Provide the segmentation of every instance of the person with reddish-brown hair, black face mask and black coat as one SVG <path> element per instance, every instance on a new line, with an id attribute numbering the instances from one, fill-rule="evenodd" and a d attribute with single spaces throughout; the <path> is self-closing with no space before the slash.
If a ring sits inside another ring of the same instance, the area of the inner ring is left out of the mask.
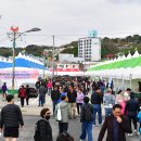
<path id="1" fill-rule="evenodd" d="M 52 128 L 49 123 L 50 115 L 51 112 L 49 108 L 42 108 L 40 112 L 40 116 L 41 116 L 40 124 L 39 124 L 40 141 L 53 141 Z"/>

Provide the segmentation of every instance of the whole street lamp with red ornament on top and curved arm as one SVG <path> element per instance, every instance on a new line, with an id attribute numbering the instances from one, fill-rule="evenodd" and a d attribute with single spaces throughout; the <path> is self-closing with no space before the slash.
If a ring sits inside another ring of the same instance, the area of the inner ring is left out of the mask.
<path id="1" fill-rule="evenodd" d="M 39 31 L 41 30 L 40 28 L 31 28 L 29 30 L 26 30 L 24 33 L 17 33 L 18 27 L 17 26 L 11 26 L 12 33 L 8 34 L 8 36 L 12 39 L 13 41 L 13 69 L 12 69 L 12 89 L 14 90 L 15 87 L 15 44 L 16 44 L 16 39 L 20 38 L 22 35 L 26 33 L 31 33 L 31 31 Z"/>

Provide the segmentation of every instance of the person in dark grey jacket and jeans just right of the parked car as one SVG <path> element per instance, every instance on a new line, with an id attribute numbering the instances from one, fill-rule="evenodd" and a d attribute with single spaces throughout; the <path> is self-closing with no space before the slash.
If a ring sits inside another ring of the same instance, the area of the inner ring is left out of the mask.
<path id="1" fill-rule="evenodd" d="M 44 97 L 46 97 L 46 88 L 44 88 L 44 84 L 42 82 L 41 87 L 39 88 L 39 106 L 43 106 Z"/>

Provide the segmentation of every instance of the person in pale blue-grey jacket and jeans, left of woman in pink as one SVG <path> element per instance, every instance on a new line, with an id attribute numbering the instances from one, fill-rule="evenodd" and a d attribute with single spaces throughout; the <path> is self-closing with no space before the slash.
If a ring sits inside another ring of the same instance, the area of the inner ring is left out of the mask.
<path id="1" fill-rule="evenodd" d="M 108 89 L 103 97 L 103 104 L 105 108 L 105 117 L 112 114 L 112 107 L 115 104 L 115 97 L 112 94 L 112 90 Z"/>

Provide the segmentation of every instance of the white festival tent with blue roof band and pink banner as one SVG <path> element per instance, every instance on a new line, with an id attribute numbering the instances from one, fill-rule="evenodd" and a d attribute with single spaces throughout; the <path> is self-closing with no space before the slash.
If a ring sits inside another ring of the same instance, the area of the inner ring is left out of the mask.
<path id="1" fill-rule="evenodd" d="M 12 86 L 12 61 L 0 59 L 0 81 L 7 82 L 9 89 L 11 89 Z M 38 78 L 42 76 L 43 69 L 44 74 L 50 74 L 50 72 L 44 68 L 43 63 L 20 53 L 15 57 L 15 89 L 25 82 L 35 84 Z"/>

